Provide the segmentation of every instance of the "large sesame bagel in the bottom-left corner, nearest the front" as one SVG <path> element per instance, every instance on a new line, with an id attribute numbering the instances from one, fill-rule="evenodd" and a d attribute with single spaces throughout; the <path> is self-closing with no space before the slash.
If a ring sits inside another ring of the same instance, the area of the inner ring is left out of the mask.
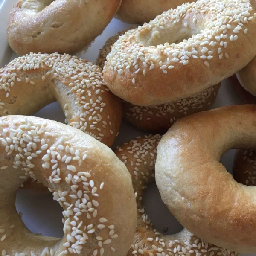
<path id="1" fill-rule="evenodd" d="M 137 219 L 131 175 L 98 140 L 55 121 L 1 117 L 0 174 L 2 255 L 126 255 Z M 35 235 L 17 214 L 15 194 L 28 177 L 63 207 L 62 239 Z"/>

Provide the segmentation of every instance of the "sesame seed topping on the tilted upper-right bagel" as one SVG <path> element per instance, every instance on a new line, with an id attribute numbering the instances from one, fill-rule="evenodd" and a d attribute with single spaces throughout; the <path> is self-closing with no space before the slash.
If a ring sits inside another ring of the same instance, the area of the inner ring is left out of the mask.
<path id="1" fill-rule="evenodd" d="M 254 18 L 249 0 L 201 0 L 163 12 L 121 35 L 113 44 L 105 65 L 105 73 L 114 74 L 108 79 L 108 86 L 115 90 L 111 79 L 119 81 L 125 76 L 130 77 L 126 88 L 128 84 L 136 87 L 138 77 L 155 69 L 159 70 L 159 77 L 185 71 L 194 63 L 201 63 L 206 70 L 214 69 L 214 60 L 220 62 L 233 54 L 230 46 L 248 34 L 248 24 Z M 178 38 L 177 29 L 188 39 Z"/>

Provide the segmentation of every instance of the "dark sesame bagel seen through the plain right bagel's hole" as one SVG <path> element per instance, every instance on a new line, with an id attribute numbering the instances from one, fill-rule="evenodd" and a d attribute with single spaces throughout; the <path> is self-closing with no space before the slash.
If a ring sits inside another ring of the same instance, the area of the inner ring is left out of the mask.
<path id="1" fill-rule="evenodd" d="M 233 175 L 237 182 L 256 186 L 256 151 L 238 150 L 233 162 Z"/>

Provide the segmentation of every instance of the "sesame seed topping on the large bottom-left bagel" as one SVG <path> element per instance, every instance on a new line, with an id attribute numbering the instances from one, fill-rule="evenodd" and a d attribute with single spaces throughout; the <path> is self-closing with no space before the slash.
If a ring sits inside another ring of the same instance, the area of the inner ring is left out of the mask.
<path id="1" fill-rule="evenodd" d="M 38 163 L 41 164 L 45 181 L 51 184 L 49 190 L 52 191 L 53 199 L 63 207 L 63 247 L 47 247 L 40 253 L 36 249 L 31 255 L 55 256 L 56 250 L 60 248 L 64 249 L 58 255 L 80 254 L 94 236 L 100 236 L 102 243 L 95 244 L 91 253 L 104 255 L 104 248 L 110 248 L 111 244 L 113 248 L 113 240 L 118 238 L 115 226 L 99 211 L 104 182 L 93 180 L 93 176 L 85 172 L 87 157 L 84 157 L 81 148 L 73 147 L 63 137 L 54 138 L 55 134 L 49 132 L 48 123 L 51 121 L 42 120 L 34 122 L 32 117 L 20 117 L 20 122 L 13 124 L 12 119 L 8 121 L 8 117 L 0 119 L 0 147 L 13 160 L 12 166 L 4 166 L 6 168 L 0 169 L 1 172 L 14 168 L 22 174 L 18 175 L 22 182 L 28 177 L 36 180 L 38 177 L 34 169 L 38 169 Z M 80 165 L 77 157 L 80 157 Z M 67 159 L 69 163 L 65 163 Z M 19 216 L 22 217 L 22 212 Z M 8 244 L 15 224 L 1 225 L 0 244 L 5 241 Z M 28 255 L 27 252 L 16 254 Z M 8 255 L 7 248 L 2 251 L 2 255 Z"/>

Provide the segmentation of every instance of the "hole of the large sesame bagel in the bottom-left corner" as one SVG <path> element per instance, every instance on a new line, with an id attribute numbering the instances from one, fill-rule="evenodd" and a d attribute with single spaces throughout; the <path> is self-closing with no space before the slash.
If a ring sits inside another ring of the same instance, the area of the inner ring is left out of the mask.
<path id="1" fill-rule="evenodd" d="M 16 210 L 26 227 L 35 234 L 61 238 L 63 236 L 62 208 L 53 201 L 50 192 L 44 194 L 18 189 Z"/>

